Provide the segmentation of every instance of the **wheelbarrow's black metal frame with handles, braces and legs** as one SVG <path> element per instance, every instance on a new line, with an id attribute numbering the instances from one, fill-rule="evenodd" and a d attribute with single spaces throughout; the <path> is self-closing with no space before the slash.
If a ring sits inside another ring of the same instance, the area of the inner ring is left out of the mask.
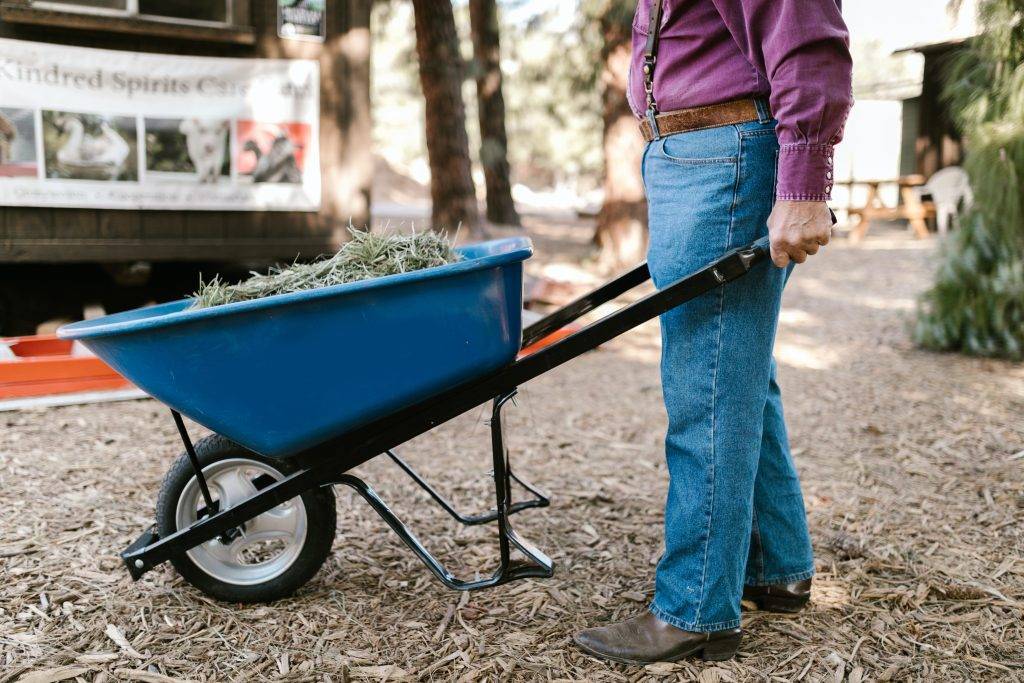
<path id="1" fill-rule="evenodd" d="M 672 283 L 660 291 L 648 294 L 588 325 L 583 330 L 529 355 L 520 357 L 500 370 L 447 389 L 438 395 L 296 454 L 292 457 L 300 465 L 299 471 L 260 489 L 227 510 L 218 510 L 211 501 L 198 460 L 195 459 L 191 441 L 180 416 L 174 413 L 175 423 L 178 425 L 179 434 L 185 444 L 185 452 L 188 453 L 200 480 L 207 509 L 213 513 L 163 539 L 158 538 L 154 529 L 151 528 L 126 549 L 121 557 L 132 578 L 137 580 L 158 564 L 195 548 L 201 543 L 218 537 L 230 538 L 234 529 L 246 521 L 306 490 L 316 486 L 344 484 L 361 496 L 402 542 L 427 565 L 427 568 L 449 588 L 468 591 L 529 577 L 550 577 L 553 572 L 551 560 L 521 539 L 509 523 L 509 517 L 512 514 L 527 508 L 545 507 L 548 505 L 548 499 L 534 486 L 512 474 L 502 421 L 502 410 L 505 404 L 512 399 L 517 387 L 524 382 L 586 351 L 597 348 L 624 332 L 690 299 L 741 278 L 754 265 L 767 258 L 768 245 L 766 240 L 729 252 L 700 270 Z M 648 279 L 650 279 L 650 272 L 645 263 L 620 275 L 526 328 L 523 331 L 522 347 L 525 348 L 547 337 L 552 332 L 615 299 Z M 412 467 L 398 458 L 393 449 L 488 401 L 493 401 L 490 441 L 497 505 L 494 510 L 484 514 L 462 515 Z M 498 523 L 500 562 L 494 574 L 477 581 L 457 579 L 430 554 L 373 488 L 358 477 L 346 474 L 353 467 L 383 454 L 386 454 L 457 521 L 463 524 L 482 524 L 492 521 Z M 522 485 L 532 498 L 513 503 L 511 500 L 511 482 L 513 480 Z M 512 560 L 513 548 L 525 557 L 524 563 Z"/>

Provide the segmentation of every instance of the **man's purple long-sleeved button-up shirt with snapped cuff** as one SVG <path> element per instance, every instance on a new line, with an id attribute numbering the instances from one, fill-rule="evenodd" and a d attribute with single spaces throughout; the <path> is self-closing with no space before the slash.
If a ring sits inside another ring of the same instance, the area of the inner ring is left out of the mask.
<path id="1" fill-rule="evenodd" d="M 853 103 L 841 0 L 665 0 L 654 69 L 659 112 L 767 97 L 780 144 L 780 200 L 823 201 Z M 647 109 L 643 49 L 651 0 L 633 19 L 629 99 Z"/>

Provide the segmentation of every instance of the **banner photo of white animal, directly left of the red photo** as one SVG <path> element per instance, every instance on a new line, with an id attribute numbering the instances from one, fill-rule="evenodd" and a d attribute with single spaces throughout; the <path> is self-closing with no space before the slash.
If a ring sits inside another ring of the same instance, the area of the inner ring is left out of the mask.
<path id="1" fill-rule="evenodd" d="M 231 174 L 226 119 L 145 119 L 145 179 L 218 182 Z"/>

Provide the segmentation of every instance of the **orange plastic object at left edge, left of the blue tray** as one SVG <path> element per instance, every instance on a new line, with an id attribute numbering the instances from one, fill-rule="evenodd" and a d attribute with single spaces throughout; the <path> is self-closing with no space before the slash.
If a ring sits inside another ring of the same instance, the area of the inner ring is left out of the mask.
<path id="1" fill-rule="evenodd" d="M 53 335 L 8 337 L 15 357 L 0 359 L 0 399 L 124 389 L 131 384 L 91 355 L 72 355 L 72 342 Z"/>

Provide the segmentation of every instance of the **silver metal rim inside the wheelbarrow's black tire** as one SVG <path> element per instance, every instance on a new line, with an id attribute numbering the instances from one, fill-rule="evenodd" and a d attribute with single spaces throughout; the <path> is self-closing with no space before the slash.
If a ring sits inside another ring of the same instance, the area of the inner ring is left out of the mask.
<path id="1" fill-rule="evenodd" d="M 207 465 L 203 475 L 220 510 L 229 509 L 256 493 L 254 480 L 267 475 L 278 481 L 284 475 L 269 465 L 248 458 L 230 458 Z M 199 519 L 206 507 L 199 480 L 193 476 L 178 496 L 175 512 L 177 528 L 185 528 Z M 252 586 L 276 579 L 288 570 L 302 553 L 306 540 L 306 506 L 293 498 L 239 527 L 241 536 L 229 544 L 212 539 L 187 551 L 188 558 L 204 572 L 234 586 Z M 284 549 L 269 559 L 247 563 L 242 556 L 260 543 L 282 542 Z"/>

